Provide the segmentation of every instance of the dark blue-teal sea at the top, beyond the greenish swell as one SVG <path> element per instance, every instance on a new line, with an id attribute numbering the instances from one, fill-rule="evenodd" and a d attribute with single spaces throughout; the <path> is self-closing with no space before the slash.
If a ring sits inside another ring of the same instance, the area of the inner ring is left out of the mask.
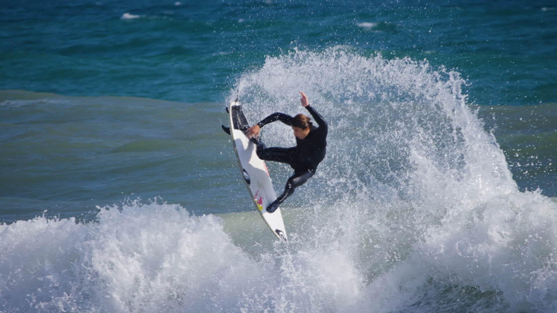
<path id="1" fill-rule="evenodd" d="M 345 45 L 457 69 L 480 105 L 557 96 L 550 1 L 7 1 L 0 10 L 3 89 L 219 102 L 266 56 Z"/>

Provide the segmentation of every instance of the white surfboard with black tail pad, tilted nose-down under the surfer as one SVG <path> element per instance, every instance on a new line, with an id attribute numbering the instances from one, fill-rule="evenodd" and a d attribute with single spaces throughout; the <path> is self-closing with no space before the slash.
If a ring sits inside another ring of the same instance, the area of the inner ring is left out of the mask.
<path id="1" fill-rule="evenodd" d="M 230 102 L 228 113 L 234 151 L 251 199 L 271 231 L 279 239 L 287 242 L 286 229 L 282 221 L 280 208 L 277 208 L 273 213 L 267 212 L 268 204 L 275 201 L 277 197 L 265 162 L 257 156 L 256 145 L 244 133 L 250 127 L 250 124 L 243 114 L 240 102 Z"/>

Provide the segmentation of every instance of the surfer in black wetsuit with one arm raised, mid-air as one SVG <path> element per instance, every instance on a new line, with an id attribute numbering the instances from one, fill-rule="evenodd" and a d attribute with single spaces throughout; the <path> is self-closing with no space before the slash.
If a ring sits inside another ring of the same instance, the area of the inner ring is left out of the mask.
<path id="1" fill-rule="evenodd" d="M 251 126 L 246 135 L 257 145 L 257 156 L 266 161 L 275 161 L 289 164 L 294 169 L 292 175 L 286 182 L 284 192 L 271 204 L 267 206 L 267 212 L 275 212 L 276 209 L 294 193 L 294 189 L 307 182 L 310 177 L 315 174 L 317 165 L 325 158 L 325 147 L 327 146 L 327 122 L 323 119 L 307 101 L 307 96 L 300 91 L 302 95 L 300 101 L 303 107 L 311 114 L 319 127 L 314 126 L 311 119 L 304 115 L 298 114 L 294 117 L 276 112 L 259 123 Z M 296 137 L 296 146 L 292 148 L 265 148 L 265 144 L 258 138 L 260 129 L 274 121 L 292 126 L 294 136 Z"/>

